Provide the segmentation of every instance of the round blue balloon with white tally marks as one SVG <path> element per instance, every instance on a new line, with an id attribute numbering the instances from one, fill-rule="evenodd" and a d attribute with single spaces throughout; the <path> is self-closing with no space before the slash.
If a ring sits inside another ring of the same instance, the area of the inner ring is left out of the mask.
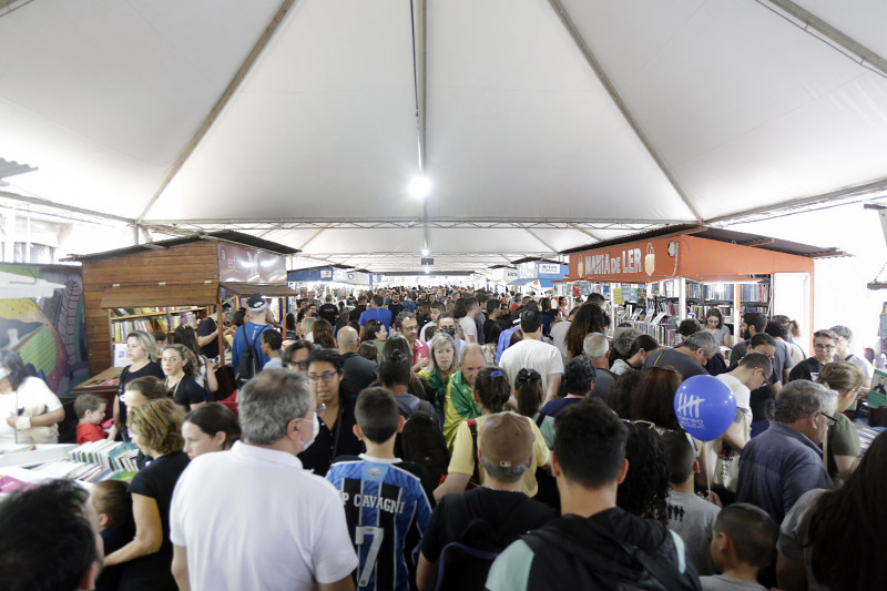
<path id="1" fill-rule="evenodd" d="M 693 376 L 677 387 L 674 414 L 686 432 L 700 441 L 712 441 L 733 422 L 736 398 L 716 377 Z"/>

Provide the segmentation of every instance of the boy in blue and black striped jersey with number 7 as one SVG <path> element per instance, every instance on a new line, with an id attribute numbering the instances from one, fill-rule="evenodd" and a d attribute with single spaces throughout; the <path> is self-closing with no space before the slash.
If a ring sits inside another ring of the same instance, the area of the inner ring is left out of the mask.
<path id="1" fill-rule="evenodd" d="M 395 457 L 404 427 L 397 401 L 385 388 L 367 388 L 355 407 L 354 432 L 366 444 L 360 456 L 340 456 L 327 480 L 339 490 L 359 565 L 360 591 L 415 589 L 421 534 L 431 514 L 422 468 Z"/>

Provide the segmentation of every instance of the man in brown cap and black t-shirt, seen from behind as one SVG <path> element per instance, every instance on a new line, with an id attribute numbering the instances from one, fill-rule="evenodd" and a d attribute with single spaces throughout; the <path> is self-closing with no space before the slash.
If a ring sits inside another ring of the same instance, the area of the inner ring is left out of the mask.
<path id="1" fill-rule="evenodd" d="M 513 412 L 488 415 L 478 434 L 478 461 L 483 466 L 482 487 L 440 499 L 422 537 L 416 571 L 419 589 L 431 589 L 440 552 L 453 541 L 468 543 L 459 536 L 472 521 L 485 521 L 502 549 L 521 533 L 558 517 L 558 512 L 523 493 L 523 475 L 536 469 L 536 437 L 526 417 Z"/>

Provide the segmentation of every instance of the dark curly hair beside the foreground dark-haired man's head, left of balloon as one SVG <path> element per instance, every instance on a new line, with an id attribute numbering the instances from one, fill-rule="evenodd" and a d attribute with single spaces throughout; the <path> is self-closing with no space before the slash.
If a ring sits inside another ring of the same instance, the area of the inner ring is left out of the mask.
<path id="1" fill-rule="evenodd" d="M 616 489 L 616 506 L 638 517 L 667 523 L 669 461 L 655 426 L 625 421 L 629 439 L 625 459 L 629 472 Z"/>

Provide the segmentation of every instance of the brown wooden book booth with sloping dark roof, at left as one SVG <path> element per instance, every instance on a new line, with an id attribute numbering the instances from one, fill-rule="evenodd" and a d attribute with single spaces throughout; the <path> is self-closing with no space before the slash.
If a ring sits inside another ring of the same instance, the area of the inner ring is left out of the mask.
<path id="1" fill-rule="evenodd" d="M 286 255 L 297 252 L 239 232 L 215 232 L 73 256 L 83 266 L 90 375 L 114 365 L 114 345 L 131 330 L 196 326 L 211 306 L 222 326 L 218 305 L 233 296 L 295 295 L 286 285 Z"/>

